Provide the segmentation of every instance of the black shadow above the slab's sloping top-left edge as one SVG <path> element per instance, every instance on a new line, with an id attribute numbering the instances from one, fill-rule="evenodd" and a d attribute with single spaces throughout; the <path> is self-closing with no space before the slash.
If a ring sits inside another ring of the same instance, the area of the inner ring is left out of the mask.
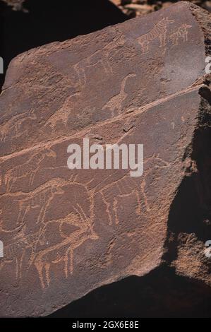
<path id="1" fill-rule="evenodd" d="M 12 11 L 0 1 L 1 54 L 4 73 L 16 55 L 49 42 L 68 40 L 128 17 L 109 0 L 27 0 L 29 13 Z M 0 75 L 0 88 L 4 75 Z"/>

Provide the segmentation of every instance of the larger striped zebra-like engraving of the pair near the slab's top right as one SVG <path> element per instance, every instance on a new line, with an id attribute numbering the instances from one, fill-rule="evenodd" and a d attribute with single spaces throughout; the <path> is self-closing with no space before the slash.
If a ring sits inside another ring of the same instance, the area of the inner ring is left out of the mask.
<path id="1" fill-rule="evenodd" d="M 137 38 L 138 43 L 141 46 L 143 54 L 149 50 L 149 45 L 152 40 L 159 39 L 159 47 L 166 45 L 167 40 L 167 25 L 174 23 L 174 20 L 169 20 L 169 18 L 162 18 L 150 32 L 145 33 Z"/>

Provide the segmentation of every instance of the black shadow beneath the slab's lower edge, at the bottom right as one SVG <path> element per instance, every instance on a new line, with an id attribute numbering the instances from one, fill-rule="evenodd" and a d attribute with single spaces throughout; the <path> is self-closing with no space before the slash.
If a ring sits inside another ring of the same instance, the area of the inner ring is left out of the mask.
<path id="1" fill-rule="evenodd" d="M 100 287 L 49 317 L 210 317 L 210 300 L 208 287 L 162 266 Z"/>

